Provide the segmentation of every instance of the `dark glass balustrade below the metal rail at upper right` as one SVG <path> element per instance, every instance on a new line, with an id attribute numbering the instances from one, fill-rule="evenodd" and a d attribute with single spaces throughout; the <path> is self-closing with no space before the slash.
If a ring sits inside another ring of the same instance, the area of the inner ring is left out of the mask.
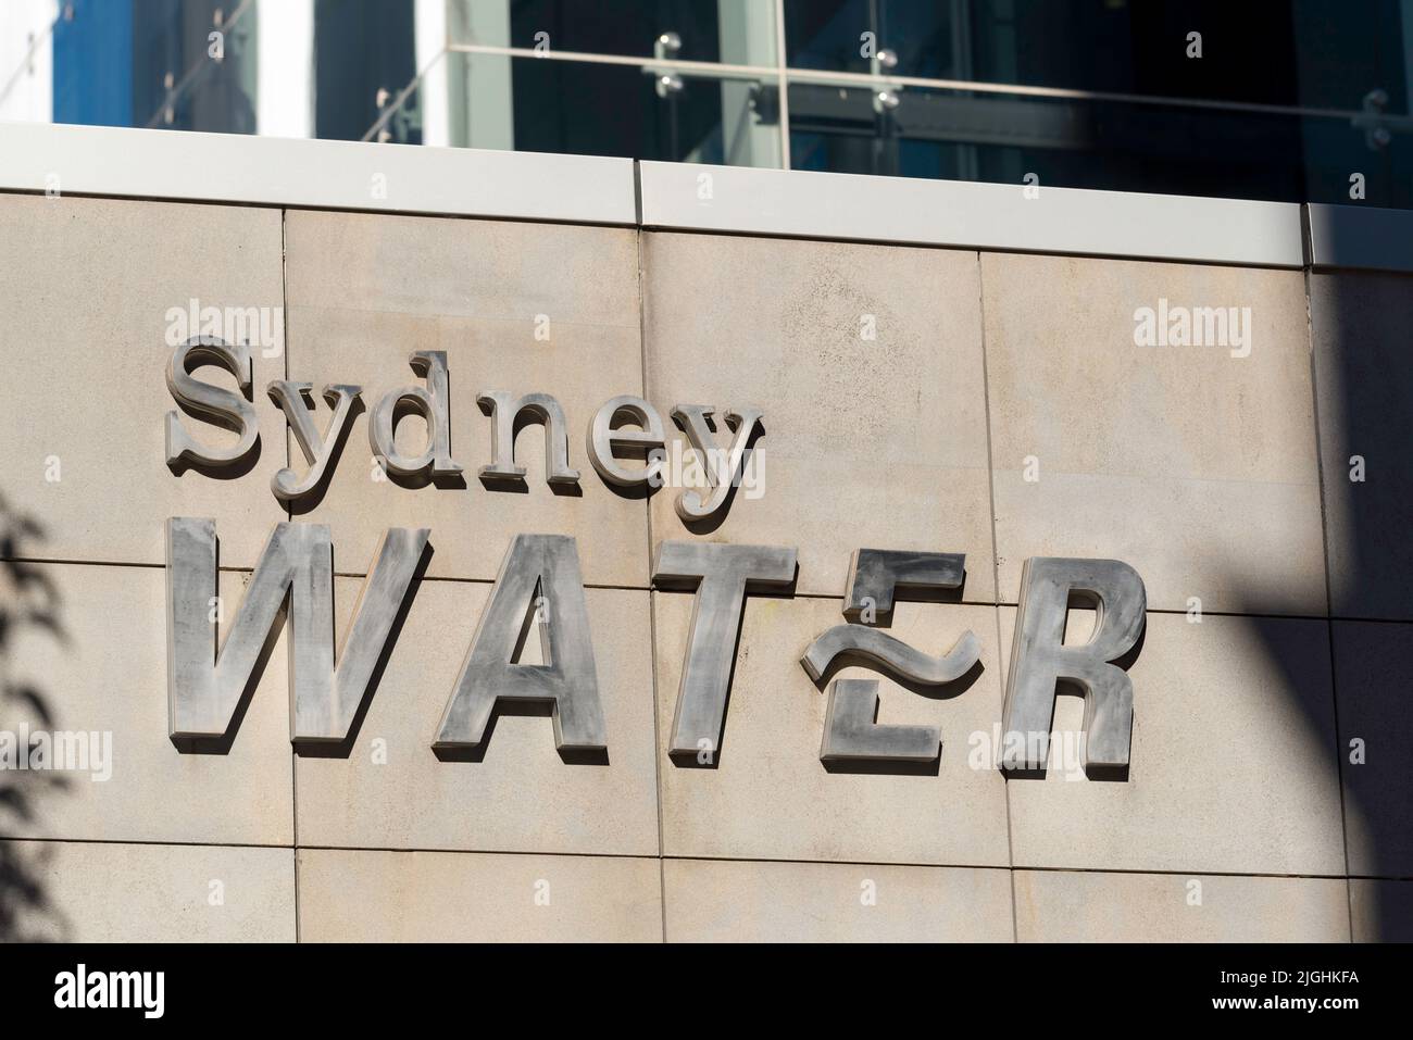
<path id="1" fill-rule="evenodd" d="M 793 82 L 797 170 L 1286 202 L 1413 206 L 1413 137 L 1379 144 L 1347 119 Z M 1308 162 L 1308 170 L 1307 170 Z"/>

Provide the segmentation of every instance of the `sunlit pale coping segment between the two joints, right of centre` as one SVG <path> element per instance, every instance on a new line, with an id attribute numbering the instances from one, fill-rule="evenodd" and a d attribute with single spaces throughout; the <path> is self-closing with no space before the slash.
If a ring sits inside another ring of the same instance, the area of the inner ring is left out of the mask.
<path id="1" fill-rule="evenodd" d="M 644 228 L 1304 266 L 1300 205 L 640 162 Z"/>

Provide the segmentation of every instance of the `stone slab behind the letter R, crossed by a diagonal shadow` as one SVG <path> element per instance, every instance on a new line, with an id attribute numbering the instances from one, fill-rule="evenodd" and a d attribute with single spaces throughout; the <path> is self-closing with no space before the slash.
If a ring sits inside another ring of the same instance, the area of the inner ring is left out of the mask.
<path id="1" fill-rule="evenodd" d="M 1344 873 L 1325 622 L 1150 613 L 1129 675 L 1128 780 L 1010 780 L 1016 866 Z M 1081 721 L 1061 697 L 1051 749 Z"/>

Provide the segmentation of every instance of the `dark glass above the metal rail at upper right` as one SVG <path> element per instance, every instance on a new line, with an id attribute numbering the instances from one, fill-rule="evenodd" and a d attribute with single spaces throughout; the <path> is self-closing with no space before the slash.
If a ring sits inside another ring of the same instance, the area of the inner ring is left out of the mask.
<path id="1" fill-rule="evenodd" d="M 883 71 L 1072 90 L 1409 112 L 1413 4 L 1344 0 L 784 0 L 791 68 Z M 1190 57 L 1188 32 L 1201 32 Z M 873 34 L 872 40 L 866 34 Z"/>

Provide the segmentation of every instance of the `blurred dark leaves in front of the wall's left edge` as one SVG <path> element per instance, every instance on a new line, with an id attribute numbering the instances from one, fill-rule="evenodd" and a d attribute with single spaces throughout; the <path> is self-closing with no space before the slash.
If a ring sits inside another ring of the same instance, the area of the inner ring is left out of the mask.
<path id="1" fill-rule="evenodd" d="M 32 834 L 47 800 L 68 786 L 62 773 L 13 767 L 21 723 L 30 732 L 52 729 L 49 702 L 37 685 L 17 677 L 16 646 L 21 640 L 66 640 L 59 596 L 45 572 L 24 562 L 44 540 L 32 517 L 17 513 L 0 496 L 0 941 L 23 942 L 62 937 L 68 928 L 49 903 L 44 878 L 54 848 L 48 842 L 10 839 Z"/>

